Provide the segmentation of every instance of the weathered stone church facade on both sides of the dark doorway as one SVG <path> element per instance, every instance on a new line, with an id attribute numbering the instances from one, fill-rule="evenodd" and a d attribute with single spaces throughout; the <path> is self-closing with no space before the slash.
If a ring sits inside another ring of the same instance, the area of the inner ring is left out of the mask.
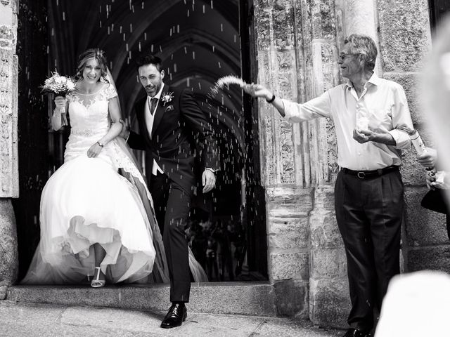
<path id="1" fill-rule="evenodd" d="M 11 199 L 26 193 L 18 185 L 19 1 L 0 0 L 0 300 L 18 277 Z M 427 0 L 254 0 L 252 5 L 254 81 L 283 98 L 314 98 L 343 81 L 337 64 L 342 40 L 352 33 L 368 34 L 378 45 L 375 71 L 404 86 L 413 124 L 432 145 L 416 87 L 432 46 Z M 288 124 L 271 105 L 254 104 L 274 313 L 345 326 L 350 304 L 334 213 L 339 168 L 333 123 Z M 401 173 L 406 203 L 402 270 L 450 271 L 445 219 L 420 209 L 426 187 L 413 150 L 404 152 Z"/>

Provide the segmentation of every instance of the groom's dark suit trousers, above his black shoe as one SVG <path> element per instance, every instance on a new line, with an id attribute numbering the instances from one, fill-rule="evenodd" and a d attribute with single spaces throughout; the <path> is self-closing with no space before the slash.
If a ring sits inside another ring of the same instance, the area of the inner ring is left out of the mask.
<path id="1" fill-rule="evenodd" d="M 188 261 L 188 242 L 184 230 L 192 195 L 162 173 L 151 176 L 150 193 L 169 267 L 170 301 L 188 302 L 191 272 Z"/>

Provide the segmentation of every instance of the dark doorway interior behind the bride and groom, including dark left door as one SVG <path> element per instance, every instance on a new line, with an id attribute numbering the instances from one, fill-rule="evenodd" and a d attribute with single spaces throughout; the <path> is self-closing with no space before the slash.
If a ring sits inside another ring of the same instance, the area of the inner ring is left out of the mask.
<path id="1" fill-rule="evenodd" d="M 266 279 L 264 190 L 259 177 L 257 110 L 239 88 L 230 86 L 208 95 L 217 79 L 229 74 L 255 78 L 252 48 L 252 1 L 245 0 L 39 0 L 20 1 L 24 25 L 42 25 L 38 33 L 19 29 L 21 92 L 33 93 L 39 107 L 28 107 L 31 95 L 20 96 L 20 134 L 34 133 L 28 143 L 20 138 L 20 199 L 18 214 L 20 275 L 27 270 L 39 240 L 39 199 L 46 178 L 63 163 L 69 129 L 48 128 L 46 98 L 38 86 L 49 72 L 73 75 L 77 55 L 86 48 L 105 51 L 120 94 L 122 114 L 131 126 L 131 107 L 140 95 L 134 59 L 139 53 L 158 53 L 165 60 L 167 84 L 191 88 L 210 117 L 219 140 L 221 169 L 216 190 L 198 195 L 188 231 L 196 258 L 211 280 Z M 40 23 L 27 22 L 29 16 Z M 24 26 L 25 27 L 25 26 Z M 34 48 L 33 57 L 27 48 Z M 24 77 L 25 76 L 25 77 Z M 27 83 L 25 83 L 27 81 Z M 30 98 L 29 98 L 30 96 Z M 50 109 L 51 109 L 51 102 Z M 26 109 L 33 111 L 32 119 Z M 39 125 L 39 127 L 37 127 Z M 34 151 L 33 156 L 30 153 Z M 139 154 L 138 154 L 139 156 Z M 46 160 L 45 160 L 46 159 Z M 33 166 L 31 168 L 31 166 Z M 40 170 L 33 192 L 30 181 Z M 30 173 L 33 172 L 32 175 Z M 28 184 L 28 185 L 27 185 Z M 27 190 L 28 188 L 28 190 Z M 32 205 L 32 206 L 28 206 Z M 19 215 L 23 214 L 23 218 Z M 20 219 L 19 219 L 20 218 Z"/>

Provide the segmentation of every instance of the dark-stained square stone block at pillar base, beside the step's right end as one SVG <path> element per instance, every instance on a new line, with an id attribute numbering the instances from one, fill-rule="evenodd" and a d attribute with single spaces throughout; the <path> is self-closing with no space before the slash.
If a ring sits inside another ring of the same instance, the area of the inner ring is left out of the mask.
<path id="1" fill-rule="evenodd" d="M 274 284 L 276 312 L 279 316 L 308 319 L 308 285 L 302 281 L 288 280 Z"/>

